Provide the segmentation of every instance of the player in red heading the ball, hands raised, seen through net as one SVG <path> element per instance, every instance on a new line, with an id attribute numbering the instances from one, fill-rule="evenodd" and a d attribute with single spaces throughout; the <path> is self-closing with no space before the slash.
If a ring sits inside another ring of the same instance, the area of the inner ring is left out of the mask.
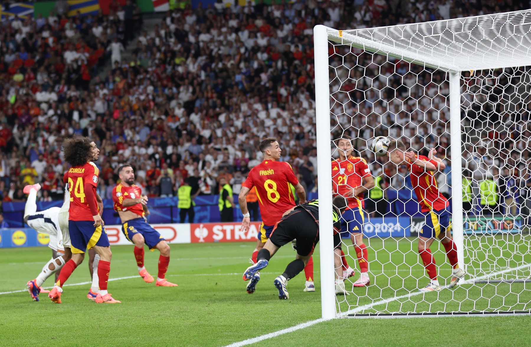
<path id="1" fill-rule="evenodd" d="M 450 226 L 449 202 L 439 192 L 437 181 L 433 176 L 434 171 L 443 170 L 446 165 L 442 159 L 435 156 L 436 152 L 430 149 L 428 157 L 416 155 L 414 152 L 406 152 L 406 145 L 400 140 L 392 140 L 387 149 L 389 159 L 396 165 L 406 165 L 410 171 L 413 190 L 417 195 L 417 200 L 421 206 L 421 211 L 425 216 L 425 224 L 418 234 L 418 253 L 422 263 L 426 268 L 430 283 L 419 289 L 420 291 L 439 291 L 441 286 L 437 279 L 437 268 L 435 259 L 431 253 L 430 246 L 436 238 L 441 240 L 448 261 L 452 266 L 452 278 L 448 288 L 457 284 L 459 279 L 465 275 L 465 270 L 460 269 L 457 262 L 457 247 L 453 243 Z"/>

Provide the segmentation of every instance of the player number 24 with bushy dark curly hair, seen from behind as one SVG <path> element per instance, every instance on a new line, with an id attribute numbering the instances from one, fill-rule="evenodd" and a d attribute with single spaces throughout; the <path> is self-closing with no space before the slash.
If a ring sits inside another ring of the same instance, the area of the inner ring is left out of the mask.
<path id="1" fill-rule="evenodd" d="M 61 304 L 63 285 L 75 268 L 83 262 L 87 248 L 94 248 L 100 256 L 98 263 L 99 292 L 95 301 L 98 304 L 114 304 L 115 300 L 107 292 L 107 281 L 110 272 L 109 239 L 104 228 L 104 221 L 99 214 L 96 186 L 98 185 L 99 169 L 91 160 L 97 160 L 99 149 L 86 137 L 75 137 L 65 140 L 63 145 L 65 161 L 71 165 L 64 175 L 63 182 L 68 184 L 70 191 L 70 208 L 68 210 L 68 231 L 70 233 L 72 259 L 61 269 L 59 278 L 48 293 L 48 297 Z"/>

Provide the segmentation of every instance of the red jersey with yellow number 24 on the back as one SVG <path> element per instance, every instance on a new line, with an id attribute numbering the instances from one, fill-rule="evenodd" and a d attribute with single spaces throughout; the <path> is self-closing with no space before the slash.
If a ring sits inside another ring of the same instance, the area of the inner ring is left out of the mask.
<path id="1" fill-rule="evenodd" d="M 68 220 L 94 220 L 90 212 L 89 203 L 92 206 L 96 206 L 99 212 L 98 202 L 96 201 L 98 176 L 99 169 L 96 164 L 91 162 L 79 166 L 72 166 L 65 173 L 63 182 L 68 183 L 68 190 L 70 191 Z M 88 201 L 88 197 L 85 194 L 85 183 L 90 183 L 93 186 L 92 201 Z"/>

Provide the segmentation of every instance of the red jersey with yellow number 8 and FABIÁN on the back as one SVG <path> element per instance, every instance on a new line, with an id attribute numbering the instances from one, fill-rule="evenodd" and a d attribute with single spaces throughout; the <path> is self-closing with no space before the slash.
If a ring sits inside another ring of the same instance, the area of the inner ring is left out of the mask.
<path id="1" fill-rule="evenodd" d="M 264 225 L 275 225 L 282 214 L 295 206 L 292 189 L 289 183 L 298 184 L 292 167 L 285 162 L 266 160 L 256 165 L 242 186 L 253 189 L 260 204 L 260 214 Z"/>

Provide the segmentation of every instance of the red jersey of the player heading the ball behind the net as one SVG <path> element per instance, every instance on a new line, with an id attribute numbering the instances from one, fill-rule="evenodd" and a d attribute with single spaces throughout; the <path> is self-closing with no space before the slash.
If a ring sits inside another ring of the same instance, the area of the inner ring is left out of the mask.
<path id="1" fill-rule="evenodd" d="M 432 163 L 438 166 L 439 163 L 433 159 L 429 159 L 423 155 L 415 155 L 418 159 Z M 417 194 L 418 203 L 421 205 L 422 212 L 429 212 L 431 210 L 443 210 L 449 206 L 449 202 L 439 192 L 437 187 L 437 180 L 433 176 L 433 171 L 424 171 L 424 169 L 417 165 L 410 164 L 408 160 L 407 170 L 411 172 L 409 177 L 411 178 L 411 184 Z"/>

